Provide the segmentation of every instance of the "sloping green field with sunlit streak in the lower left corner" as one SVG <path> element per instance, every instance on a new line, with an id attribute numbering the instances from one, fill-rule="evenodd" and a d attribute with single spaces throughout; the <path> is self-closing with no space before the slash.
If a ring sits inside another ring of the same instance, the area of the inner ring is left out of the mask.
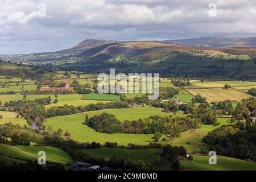
<path id="1" fill-rule="evenodd" d="M 3 156 L 6 157 L 37 161 L 39 158 L 39 151 L 46 152 L 46 162 L 68 163 L 73 161 L 67 152 L 56 147 L 10 146 L 7 144 L 0 144 L 0 153 L 3 153 Z"/>

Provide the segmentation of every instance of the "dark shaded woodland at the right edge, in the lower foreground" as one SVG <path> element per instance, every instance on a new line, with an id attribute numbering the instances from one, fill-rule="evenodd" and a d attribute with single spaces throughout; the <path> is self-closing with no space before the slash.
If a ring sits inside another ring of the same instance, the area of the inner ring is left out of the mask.
<path id="1" fill-rule="evenodd" d="M 256 160 L 256 126 L 247 121 L 237 121 L 233 125 L 224 125 L 209 132 L 203 141 L 209 144 L 210 150 L 219 155 L 235 156 Z"/>

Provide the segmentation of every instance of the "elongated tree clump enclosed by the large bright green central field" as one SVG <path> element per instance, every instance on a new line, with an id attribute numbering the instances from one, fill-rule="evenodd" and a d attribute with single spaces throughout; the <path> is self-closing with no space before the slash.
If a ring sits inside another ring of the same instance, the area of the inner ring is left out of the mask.
<path id="1" fill-rule="evenodd" d="M 179 137 L 180 133 L 200 127 L 200 120 L 191 117 L 172 118 L 151 116 L 137 121 L 119 121 L 114 114 L 102 113 L 85 119 L 85 124 L 101 133 L 133 133 L 155 134 L 162 133 L 170 137 Z"/>

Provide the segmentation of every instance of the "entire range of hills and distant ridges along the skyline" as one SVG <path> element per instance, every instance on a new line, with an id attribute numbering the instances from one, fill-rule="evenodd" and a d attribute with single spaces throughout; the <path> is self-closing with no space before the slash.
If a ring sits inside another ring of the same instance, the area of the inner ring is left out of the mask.
<path id="1" fill-rule="evenodd" d="M 177 42 L 115 42 L 88 39 L 59 52 L 7 55 L 5 61 L 44 67 L 123 73 L 160 73 L 163 77 L 228 80 L 256 78 L 254 38 L 199 38 Z M 203 46 L 203 47 L 199 47 Z M 223 47 L 225 46 L 225 47 Z M 235 47 L 229 47 L 235 46 Z M 240 47 L 237 47 L 240 46 Z"/>

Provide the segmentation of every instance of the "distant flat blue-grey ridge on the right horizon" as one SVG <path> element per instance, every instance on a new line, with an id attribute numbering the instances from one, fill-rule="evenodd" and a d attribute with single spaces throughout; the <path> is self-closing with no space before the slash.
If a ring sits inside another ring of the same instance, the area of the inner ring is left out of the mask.
<path id="1" fill-rule="evenodd" d="M 197 47 L 256 47 L 256 37 L 206 37 L 195 39 L 164 40 L 163 42 Z"/>

